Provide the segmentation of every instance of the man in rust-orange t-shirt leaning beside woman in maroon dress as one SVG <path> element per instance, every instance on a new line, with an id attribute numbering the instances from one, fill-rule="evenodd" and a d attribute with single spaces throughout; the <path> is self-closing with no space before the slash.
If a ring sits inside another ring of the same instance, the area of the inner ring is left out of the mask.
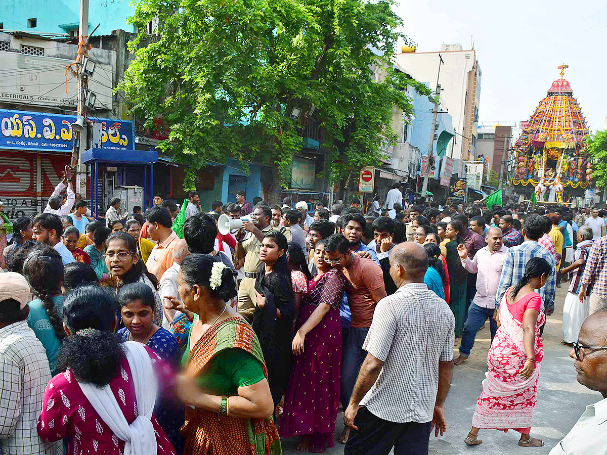
<path id="1" fill-rule="evenodd" d="M 325 240 L 325 262 L 344 273 L 344 291 L 352 312 L 350 330 L 342 349 L 341 402 L 344 409 L 348 407 L 358 371 L 367 357 L 362 345 L 373 321 L 375 306 L 386 296 L 381 267 L 371 259 L 353 254 L 348 246 L 348 239 L 340 234 L 330 235 Z M 346 427 L 340 442 L 345 442 L 348 434 Z"/>

